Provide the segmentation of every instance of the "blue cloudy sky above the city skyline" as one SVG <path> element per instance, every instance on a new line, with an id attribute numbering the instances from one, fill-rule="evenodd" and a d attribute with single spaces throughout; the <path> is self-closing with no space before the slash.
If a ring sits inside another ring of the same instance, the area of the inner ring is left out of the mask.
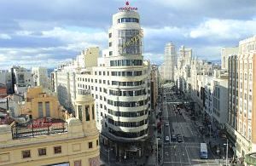
<path id="1" fill-rule="evenodd" d="M 219 60 L 220 48 L 256 35 L 256 0 L 131 0 L 141 14 L 144 56 L 160 64 L 165 44 Z M 124 0 L 0 1 L 0 69 L 57 66 L 90 46 L 108 48 L 112 14 Z"/>

